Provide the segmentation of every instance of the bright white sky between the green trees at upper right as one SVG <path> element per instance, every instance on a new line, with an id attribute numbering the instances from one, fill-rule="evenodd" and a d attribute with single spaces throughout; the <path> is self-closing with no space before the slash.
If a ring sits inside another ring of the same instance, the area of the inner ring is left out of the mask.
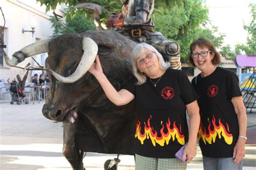
<path id="1" fill-rule="evenodd" d="M 233 49 L 235 44 L 246 43 L 247 32 L 243 24 L 248 25 L 252 20 L 251 9 L 248 8 L 250 3 L 256 3 L 256 0 L 206 0 L 212 25 L 225 33 L 224 44 Z"/>

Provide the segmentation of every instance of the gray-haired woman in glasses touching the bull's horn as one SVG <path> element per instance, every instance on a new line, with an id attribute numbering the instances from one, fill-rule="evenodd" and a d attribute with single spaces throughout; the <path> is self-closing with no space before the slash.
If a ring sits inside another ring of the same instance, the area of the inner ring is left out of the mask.
<path id="1" fill-rule="evenodd" d="M 187 163 L 196 156 L 200 121 L 198 96 L 187 76 L 169 68 L 170 63 L 165 62 L 153 46 L 138 44 L 131 59 L 137 81 L 127 82 L 119 91 L 104 75 L 99 56 L 89 72 L 114 104 L 125 105 L 136 98 L 139 112 L 134 135 L 136 169 L 186 169 Z M 189 132 L 186 109 L 190 116 Z M 179 161 L 175 154 L 185 143 L 182 161 Z"/>

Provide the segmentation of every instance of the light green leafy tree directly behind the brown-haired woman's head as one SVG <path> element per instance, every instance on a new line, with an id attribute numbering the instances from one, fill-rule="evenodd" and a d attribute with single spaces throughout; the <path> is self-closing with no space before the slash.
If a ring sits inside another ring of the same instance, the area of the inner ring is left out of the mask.
<path id="1" fill-rule="evenodd" d="M 187 62 L 187 55 L 190 53 L 189 48 L 193 40 L 206 37 L 218 42 L 217 45 L 221 45 L 223 42 L 223 35 L 213 36 L 213 33 L 217 32 L 216 27 L 213 27 L 212 30 L 204 28 L 207 16 L 208 9 L 203 5 L 203 1 L 187 0 L 184 4 L 174 1 L 167 8 L 154 9 L 152 19 L 156 24 L 156 31 L 179 43 L 181 60 Z"/>

